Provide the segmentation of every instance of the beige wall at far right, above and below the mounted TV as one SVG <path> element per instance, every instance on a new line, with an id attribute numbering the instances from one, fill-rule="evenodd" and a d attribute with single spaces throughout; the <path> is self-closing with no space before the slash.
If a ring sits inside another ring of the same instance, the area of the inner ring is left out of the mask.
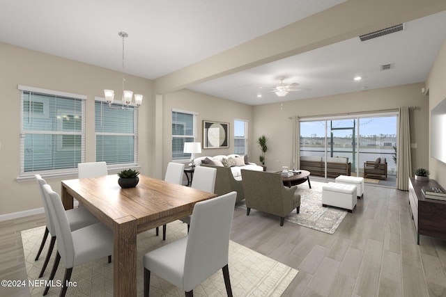
<path id="1" fill-rule="evenodd" d="M 429 115 L 430 111 L 440 102 L 446 99 L 446 41 L 441 47 L 436 61 L 433 63 L 429 78 L 426 81 L 429 90 Z M 430 125 L 430 124 L 429 124 Z M 430 127 L 429 127 L 430 132 Z M 445 147 L 446 150 L 446 147 Z M 433 159 L 429 152 L 429 170 L 431 179 L 436 179 L 443 188 L 446 188 L 446 164 Z"/>

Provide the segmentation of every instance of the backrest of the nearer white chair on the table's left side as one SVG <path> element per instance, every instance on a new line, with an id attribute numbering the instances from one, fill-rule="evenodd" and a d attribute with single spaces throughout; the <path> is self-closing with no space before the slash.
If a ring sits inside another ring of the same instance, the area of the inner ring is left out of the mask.
<path id="1" fill-rule="evenodd" d="M 61 255 L 66 268 L 70 268 L 74 265 L 75 248 L 66 211 L 59 194 L 54 192 L 49 184 L 43 185 L 43 191 L 49 205 L 49 214 L 52 216 L 56 229 L 57 251 Z"/>

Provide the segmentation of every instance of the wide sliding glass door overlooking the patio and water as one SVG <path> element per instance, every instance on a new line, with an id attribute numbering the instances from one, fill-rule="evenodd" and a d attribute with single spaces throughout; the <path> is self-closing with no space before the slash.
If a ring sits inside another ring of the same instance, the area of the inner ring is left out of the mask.
<path id="1" fill-rule="evenodd" d="M 328 172 L 327 163 L 345 158 L 351 163 L 352 176 L 396 186 L 397 120 L 397 113 L 300 120 L 301 169 L 305 169 L 303 164 L 311 166 L 312 175 L 333 177 L 336 173 Z"/>

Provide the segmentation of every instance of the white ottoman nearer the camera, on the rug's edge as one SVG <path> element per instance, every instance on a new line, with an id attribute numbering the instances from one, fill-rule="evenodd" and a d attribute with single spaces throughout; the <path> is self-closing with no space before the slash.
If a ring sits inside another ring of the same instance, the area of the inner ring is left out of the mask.
<path id="1" fill-rule="evenodd" d="M 322 186 L 322 206 L 347 209 L 352 212 L 356 207 L 356 186 L 329 182 Z"/>

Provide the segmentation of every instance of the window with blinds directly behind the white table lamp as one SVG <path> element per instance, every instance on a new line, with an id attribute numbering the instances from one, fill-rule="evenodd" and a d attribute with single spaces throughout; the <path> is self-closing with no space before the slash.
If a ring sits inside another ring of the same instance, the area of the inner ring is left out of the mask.
<path id="1" fill-rule="evenodd" d="M 197 114 L 188 111 L 172 111 L 172 160 L 190 159 L 184 153 L 184 143 L 193 143 L 197 130 Z"/>

